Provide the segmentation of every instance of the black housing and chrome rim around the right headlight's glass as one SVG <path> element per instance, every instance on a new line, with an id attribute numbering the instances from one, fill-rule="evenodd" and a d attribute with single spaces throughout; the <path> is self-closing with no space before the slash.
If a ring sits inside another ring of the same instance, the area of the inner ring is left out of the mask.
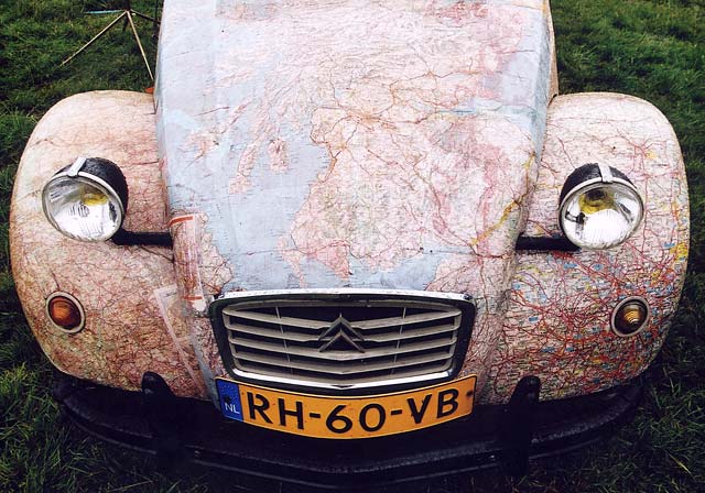
<path id="1" fill-rule="evenodd" d="M 623 238 L 607 243 L 606 245 L 595 245 L 589 242 L 581 241 L 572 237 L 572 234 L 566 231 L 564 227 L 564 212 L 565 208 L 572 200 L 579 194 L 584 194 L 589 190 L 598 189 L 600 187 L 623 187 L 637 201 L 638 204 L 638 215 L 637 219 L 630 226 L 629 231 Z M 623 244 L 633 233 L 639 229 L 644 216 L 644 205 L 643 199 L 641 198 L 641 194 L 633 185 L 633 183 L 629 179 L 627 175 L 625 175 L 619 169 L 607 166 L 605 164 L 598 163 L 588 163 L 579 166 L 568 177 L 566 178 L 563 188 L 561 190 L 560 196 L 560 205 L 558 205 L 558 227 L 563 232 L 563 235 L 576 246 L 586 250 L 608 250 L 620 244 Z"/>

